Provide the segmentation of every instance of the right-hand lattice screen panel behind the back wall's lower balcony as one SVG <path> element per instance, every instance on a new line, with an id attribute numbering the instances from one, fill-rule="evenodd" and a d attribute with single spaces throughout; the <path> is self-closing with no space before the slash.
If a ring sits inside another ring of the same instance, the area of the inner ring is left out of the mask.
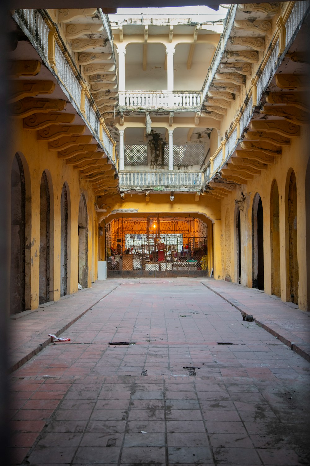
<path id="1" fill-rule="evenodd" d="M 168 165 L 169 146 L 164 147 L 164 164 Z M 174 165 L 201 165 L 204 162 L 204 144 L 173 144 Z"/>

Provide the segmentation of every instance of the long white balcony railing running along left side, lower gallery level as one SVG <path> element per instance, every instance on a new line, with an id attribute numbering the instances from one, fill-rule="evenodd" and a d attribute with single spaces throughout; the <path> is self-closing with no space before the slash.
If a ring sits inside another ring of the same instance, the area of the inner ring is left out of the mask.
<path id="1" fill-rule="evenodd" d="M 57 76 L 61 88 L 70 99 L 73 107 L 80 113 L 97 142 L 102 146 L 102 149 L 105 150 L 107 156 L 117 167 L 118 160 L 117 152 L 115 151 L 115 142 L 107 130 L 106 125 L 101 122 L 102 118 L 96 104 L 90 97 L 85 95 L 85 104 L 83 108 L 81 107 L 81 93 L 85 92 L 85 82 L 79 74 L 78 68 L 58 33 L 55 33 L 53 38 L 55 42 L 54 55 L 53 47 L 51 50 L 49 49 L 49 36 L 52 33 L 52 21 L 48 17 L 46 11 L 34 9 L 15 10 L 13 18 L 31 41 L 47 68 L 53 75 Z M 102 19 L 103 21 L 105 20 L 105 27 L 108 27 L 106 15 L 102 15 Z M 107 34 L 110 34 L 109 30 L 107 30 Z M 54 60 L 53 66 L 51 66 L 50 63 L 52 55 Z"/>

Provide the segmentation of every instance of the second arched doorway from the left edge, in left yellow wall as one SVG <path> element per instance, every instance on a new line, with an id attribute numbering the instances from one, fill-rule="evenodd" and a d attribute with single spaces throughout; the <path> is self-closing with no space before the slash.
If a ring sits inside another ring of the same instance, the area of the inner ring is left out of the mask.
<path id="1" fill-rule="evenodd" d="M 39 304 L 49 301 L 50 289 L 50 190 L 46 172 L 40 183 Z"/>

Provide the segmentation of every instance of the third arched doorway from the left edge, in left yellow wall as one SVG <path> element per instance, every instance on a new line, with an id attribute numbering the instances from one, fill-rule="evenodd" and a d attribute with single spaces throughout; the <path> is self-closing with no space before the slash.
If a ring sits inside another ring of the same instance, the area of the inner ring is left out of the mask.
<path id="1" fill-rule="evenodd" d="M 62 187 L 60 198 L 60 296 L 67 294 L 68 280 L 68 193 Z"/>

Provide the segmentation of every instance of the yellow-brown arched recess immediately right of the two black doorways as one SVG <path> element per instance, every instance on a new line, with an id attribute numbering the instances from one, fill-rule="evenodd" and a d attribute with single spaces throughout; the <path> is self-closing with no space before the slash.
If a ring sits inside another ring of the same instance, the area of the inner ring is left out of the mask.
<path id="1" fill-rule="evenodd" d="M 270 192 L 270 255 L 271 294 L 280 297 L 279 191 L 276 180 L 273 180 Z"/>

